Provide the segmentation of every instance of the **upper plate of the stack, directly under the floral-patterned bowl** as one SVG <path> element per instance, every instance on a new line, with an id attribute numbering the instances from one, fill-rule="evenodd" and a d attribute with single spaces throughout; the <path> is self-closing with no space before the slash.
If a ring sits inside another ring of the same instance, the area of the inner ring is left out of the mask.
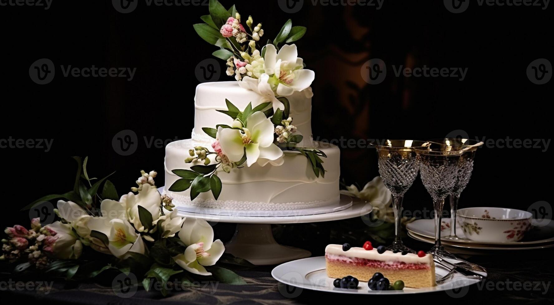
<path id="1" fill-rule="evenodd" d="M 474 241 L 466 239 L 464 231 L 459 224 L 456 224 L 456 235 L 459 239 L 451 239 L 450 234 L 450 218 L 442 219 L 441 238 L 442 241 L 447 241 L 452 244 L 479 244 L 479 245 L 502 245 L 502 246 L 525 246 L 532 244 L 552 243 L 554 241 L 554 222 L 549 222 L 546 225 L 532 227 L 525 234 L 521 241 Z M 531 220 L 532 225 L 537 224 L 536 219 Z M 448 227 L 447 227 L 448 226 Z M 435 220 L 434 219 L 418 219 L 406 225 L 408 232 L 430 238 L 434 240 L 435 236 Z M 472 248 L 474 248 L 472 246 Z"/>

